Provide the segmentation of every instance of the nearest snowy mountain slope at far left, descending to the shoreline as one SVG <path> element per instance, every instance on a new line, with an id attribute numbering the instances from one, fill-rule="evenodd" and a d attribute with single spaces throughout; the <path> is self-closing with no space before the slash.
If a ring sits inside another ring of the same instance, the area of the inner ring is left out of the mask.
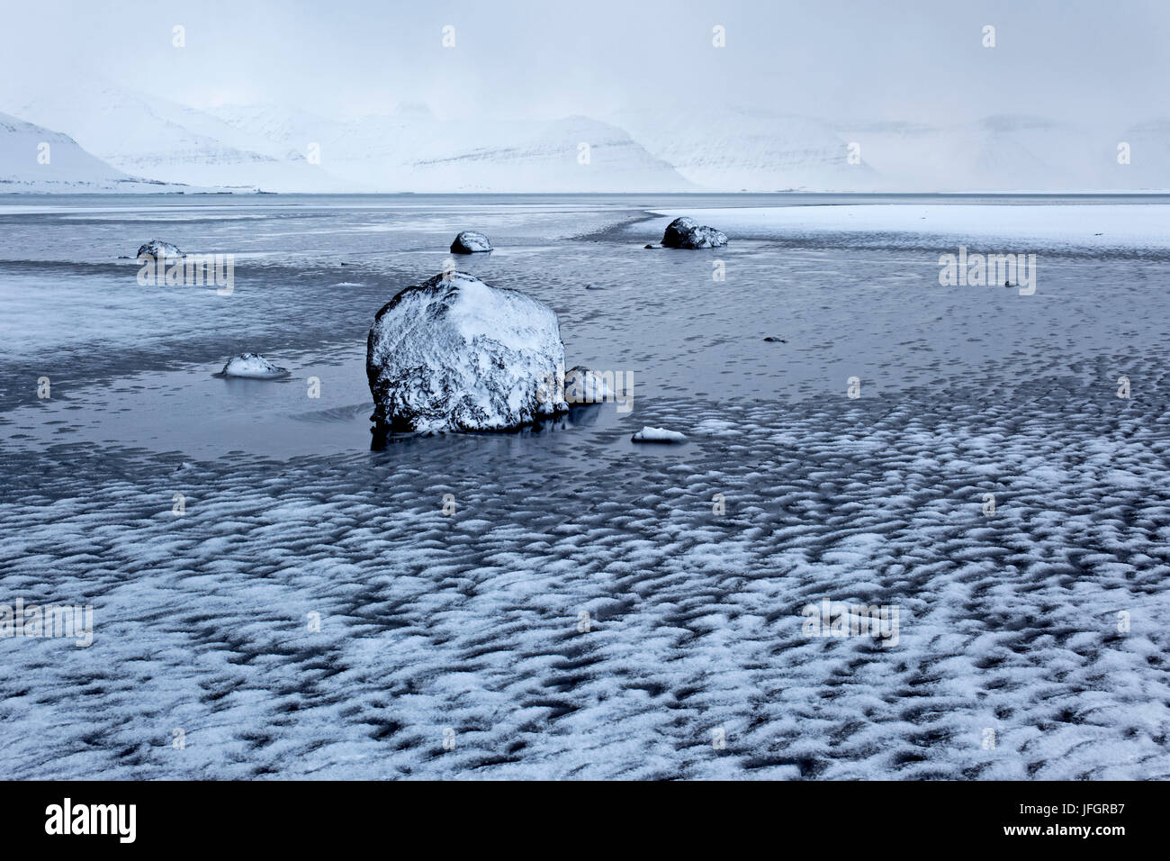
<path id="1" fill-rule="evenodd" d="M 132 177 L 60 131 L 0 114 L 0 193 L 198 191 Z"/>

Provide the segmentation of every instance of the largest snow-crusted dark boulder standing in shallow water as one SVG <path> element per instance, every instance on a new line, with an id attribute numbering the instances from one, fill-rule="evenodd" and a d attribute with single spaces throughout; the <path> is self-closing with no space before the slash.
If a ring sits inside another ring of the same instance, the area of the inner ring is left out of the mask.
<path id="1" fill-rule="evenodd" d="M 494 431 L 567 411 L 557 314 L 462 272 L 407 287 L 366 344 L 374 421 L 390 431 Z"/>

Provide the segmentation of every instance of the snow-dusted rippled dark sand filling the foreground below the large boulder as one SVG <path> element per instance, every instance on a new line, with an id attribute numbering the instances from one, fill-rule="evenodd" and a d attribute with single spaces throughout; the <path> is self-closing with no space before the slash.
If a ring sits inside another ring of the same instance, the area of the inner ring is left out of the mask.
<path id="1" fill-rule="evenodd" d="M 96 621 L 0 640 L 5 777 L 1168 778 L 1170 421 L 1124 363 L 1144 396 L 1102 358 L 993 398 L 644 401 L 669 453 L 2 450 L 0 600 Z M 806 638 L 824 597 L 897 604 L 899 644 Z"/>

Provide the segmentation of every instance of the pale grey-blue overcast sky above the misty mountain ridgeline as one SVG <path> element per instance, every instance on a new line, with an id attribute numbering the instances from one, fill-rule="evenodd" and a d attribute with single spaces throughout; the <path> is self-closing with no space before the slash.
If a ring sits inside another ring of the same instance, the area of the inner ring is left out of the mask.
<path id="1" fill-rule="evenodd" d="M 0 74 L 27 95 L 102 76 L 197 108 L 338 118 L 400 102 L 445 117 L 604 116 L 662 98 L 934 124 L 1170 115 L 1168 0 L 6 0 L 0 14 Z"/>

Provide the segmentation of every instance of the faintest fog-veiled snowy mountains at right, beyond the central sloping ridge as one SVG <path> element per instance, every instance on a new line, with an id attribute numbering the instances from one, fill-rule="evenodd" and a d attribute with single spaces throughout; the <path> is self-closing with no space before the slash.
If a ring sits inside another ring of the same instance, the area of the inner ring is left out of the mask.
<path id="1" fill-rule="evenodd" d="M 639 108 L 613 122 L 687 179 L 717 191 L 1170 189 L 1165 119 L 1113 136 L 1039 116 L 834 124 L 710 105 Z M 1130 165 L 1117 164 L 1122 141 L 1130 143 Z"/>

